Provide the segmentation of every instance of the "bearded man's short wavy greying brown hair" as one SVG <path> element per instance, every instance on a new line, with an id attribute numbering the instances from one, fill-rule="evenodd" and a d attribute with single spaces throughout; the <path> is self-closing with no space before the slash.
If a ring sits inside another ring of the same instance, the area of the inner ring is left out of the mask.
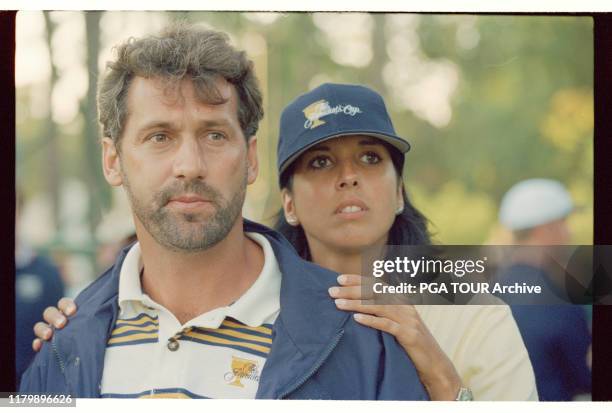
<path id="1" fill-rule="evenodd" d="M 221 104 L 215 81 L 221 77 L 238 94 L 238 120 L 246 139 L 257 133 L 263 118 L 261 91 L 253 62 L 244 51 L 229 44 L 225 33 L 174 23 L 158 36 L 129 38 L 115 47 L 116 60 L 98 85 L 98 115 L 105 137 L 119 149 L 127 112 L 127 92 L 135 76 L 160 78 L 169 86 L 184 78 L 193 81 L 198 97 L 208 104 Z"/>

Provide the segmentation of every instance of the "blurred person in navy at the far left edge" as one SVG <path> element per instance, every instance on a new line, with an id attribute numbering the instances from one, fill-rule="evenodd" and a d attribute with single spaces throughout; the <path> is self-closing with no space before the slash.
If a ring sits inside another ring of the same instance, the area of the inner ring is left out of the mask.
<path id="1" fill-rule="evenodd" d="M 42 311 L 54 305 L 64 291 L 58 267 L 47 256 L 37 253 L 20 232 L 20 210 L 23 207 L 23 194 L 16 194 L 15 216 L 15 371 L 17 387 L 21 375 L 34 355 L 32 349 L 32 323 Z"/>

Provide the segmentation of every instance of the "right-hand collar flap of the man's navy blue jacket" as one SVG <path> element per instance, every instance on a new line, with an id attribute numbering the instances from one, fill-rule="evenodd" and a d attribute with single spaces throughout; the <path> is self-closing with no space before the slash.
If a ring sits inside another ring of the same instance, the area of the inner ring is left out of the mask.
<path id="1" fill-rule="evenodd" d="M 282 273 L 281 311 L 257 391 L 257 398 L 279 398 L 316 372 L 349 314 L 339 311 L 327 292 L 337 273 L 301 259 L 276 231 L 247 220 L 244 230 L 268 238 Z"/>

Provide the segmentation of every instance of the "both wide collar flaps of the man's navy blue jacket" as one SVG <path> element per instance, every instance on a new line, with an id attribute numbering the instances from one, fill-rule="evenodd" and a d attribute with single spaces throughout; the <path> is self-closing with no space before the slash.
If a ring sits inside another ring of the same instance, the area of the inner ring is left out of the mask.
<path id="1" fill-rule="evenodd" d="M 277 398 L 304 378 L 305 372 L 313 374 L 313 368 L 329 356 L 330 345 L 342 333 L 349 314 L 339 311 L 327 292 L 336 285 L 336 273 L 302 260 L 289 241 L 270 228 L 245 219 L 244 231 L 268 239 L 282 273 L 281 311 L 257 392 L 258 398 Z M 100 395 L 106 342 L 118 314 L 119 273 L 130 247 L 124 248 L 113 267 L 79 295 L 76 303 L 80 317 L 54 335 L 69 389 L 78 387 L 80 397 Z M 81 368 L 77 368 L 79 364 Z"/>

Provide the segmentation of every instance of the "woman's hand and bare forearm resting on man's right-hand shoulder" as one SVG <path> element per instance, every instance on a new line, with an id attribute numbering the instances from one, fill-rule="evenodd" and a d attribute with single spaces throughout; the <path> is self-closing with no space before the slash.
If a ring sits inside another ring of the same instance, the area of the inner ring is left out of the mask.
<path id="1" fill-rule="evenodd" d="M 338 283 L 340 287 L 329 289 L 336 306 L 355 312 L 358 323 L 395 336 L 412 359 L 431 400 L 455 400 L 462 386 L 461 378 L 415 307 L 363 304 L 360 275 L 342 274 Z"/>

